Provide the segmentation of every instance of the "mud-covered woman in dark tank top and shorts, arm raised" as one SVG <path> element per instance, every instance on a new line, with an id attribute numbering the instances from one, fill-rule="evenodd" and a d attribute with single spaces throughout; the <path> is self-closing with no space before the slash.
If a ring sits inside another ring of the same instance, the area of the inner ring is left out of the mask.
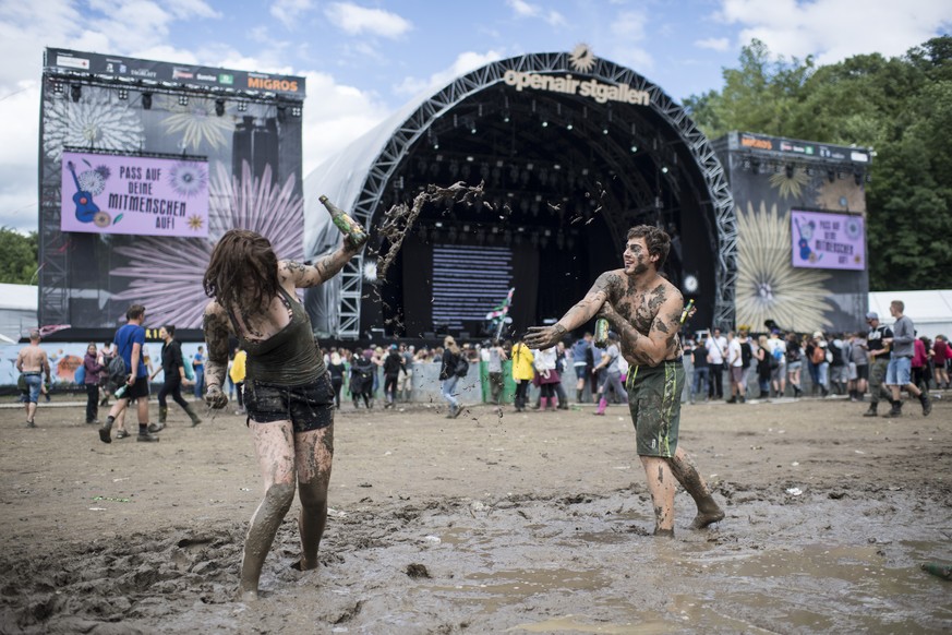
<path id="1" fill-rule="evenodd" d="M 244 229 L 221 237 L 205 272 L 205 400 L 224 408 L 228 338 L 248 352 L 244 406 L 264 479 L 264 500 L 248 528 L 241 559 L 241 596 L 257 599 L 258 578 L 278 527 L 300 491 L 301 571 L 317 566 L 327 520 L 327 486 L 334 455 L 334 390 L 298 301 L 296 288 L 334 277 L 363 248 L 348 237 L 313 265 L 278 261 L 270 242 Z"/>

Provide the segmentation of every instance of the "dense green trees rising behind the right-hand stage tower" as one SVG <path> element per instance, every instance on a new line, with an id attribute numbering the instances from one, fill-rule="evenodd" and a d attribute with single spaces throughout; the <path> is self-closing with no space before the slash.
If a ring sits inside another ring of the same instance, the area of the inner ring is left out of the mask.
<path id="1" fill-rule="evenodd" d="M 952 37 L 828 65 L 752 40 L 723 76 L 721 91 L 685 100 L 711 139 L 739 130 L 873 148 L 870 290 L 952 287 Z"/>

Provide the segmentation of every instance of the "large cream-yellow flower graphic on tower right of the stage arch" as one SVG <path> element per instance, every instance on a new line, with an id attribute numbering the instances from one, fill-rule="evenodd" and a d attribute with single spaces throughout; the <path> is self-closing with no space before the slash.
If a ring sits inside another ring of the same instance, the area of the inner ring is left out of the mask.
<path id="1" fill-rule="evenodd" d="M 824 317 L 831 310 L 823 283 L 829 274 L 795 268 L 791 264 L 790 213 L 770 212 L 763 203 L 755 213 L 737 209 L 736 319 L 738 324 L 760 327 L 767 320 L 782 328 L 815 331 L 832 323 Z"/>

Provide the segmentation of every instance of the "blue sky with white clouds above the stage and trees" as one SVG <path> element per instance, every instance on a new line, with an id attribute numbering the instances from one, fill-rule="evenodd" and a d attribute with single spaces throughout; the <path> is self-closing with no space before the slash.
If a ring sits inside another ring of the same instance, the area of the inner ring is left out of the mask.
<path id="1" fill-rule="evenodd" d="M 306 176 L 419 92 L 507 57 L 586 43 L 680 101 L 719 89 L 754 37 L 829 63 L 950 31 L 952 0 L 0 0 L 0 226 L 37 229 L 48 46 L 306 76 Z"/>

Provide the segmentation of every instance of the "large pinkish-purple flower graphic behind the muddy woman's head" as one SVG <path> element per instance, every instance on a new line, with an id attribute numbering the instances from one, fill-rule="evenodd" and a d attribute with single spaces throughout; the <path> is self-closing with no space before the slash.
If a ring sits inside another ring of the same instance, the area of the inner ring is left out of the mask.
<path id="1" fill-rule="evenodd" d="M 150 323 L 200 328 L 208 303 L 202 278 L 222 233 L 252 229 L 272 241 L 279 259 L 303 259 L 304 201 L 294 193 L 294 183 L 293 175 L 282 185 L 275 183 L 270 166 L 257 179 L 248 161 L 242 161 L 241 178 L 218 164 L 210 187 L 208 239 L 146 237 L 117 248 L 129 265 L 111 275 L 131 281 L 115 299 L 145 304 Z"/>

